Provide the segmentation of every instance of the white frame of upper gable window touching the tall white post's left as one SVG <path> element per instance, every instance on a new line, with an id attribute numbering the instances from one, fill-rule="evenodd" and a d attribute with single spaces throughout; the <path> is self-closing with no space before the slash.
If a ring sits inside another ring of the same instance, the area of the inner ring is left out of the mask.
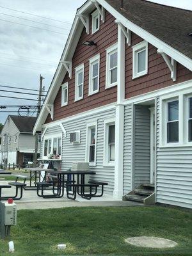
<path id="1" fill-rule="evenodd" d="M 118 45 L 114 44 L 106 49 L 106 89 L 111 88 L 117 85 L 117 81 L 115 83 L 110 83 L 110 56 L 117 52 L 118 54 Z M 118 61 L 117 61 L 118 62 Z M 116 63 L 117 74 L 118 74 L 118 63 Z"/>

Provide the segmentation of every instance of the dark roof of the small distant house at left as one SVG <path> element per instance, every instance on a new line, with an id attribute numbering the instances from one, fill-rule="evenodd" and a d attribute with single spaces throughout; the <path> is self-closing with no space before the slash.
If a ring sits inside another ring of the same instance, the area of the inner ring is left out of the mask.
<path id="1" fill-rule="evenodd" d="M 36 122 L 33 116 L 13 116 L 9 115 L 20 132 L 32 133 Z"/>

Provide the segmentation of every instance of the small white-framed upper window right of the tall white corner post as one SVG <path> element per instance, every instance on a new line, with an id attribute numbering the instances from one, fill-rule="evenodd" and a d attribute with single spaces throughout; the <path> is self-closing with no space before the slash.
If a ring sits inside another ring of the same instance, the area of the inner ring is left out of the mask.
<path id="1" fill-rule="evenodd" d="M 132 47 L 132 79 L 148 73 L 148 42 L 143 41 Z"/>

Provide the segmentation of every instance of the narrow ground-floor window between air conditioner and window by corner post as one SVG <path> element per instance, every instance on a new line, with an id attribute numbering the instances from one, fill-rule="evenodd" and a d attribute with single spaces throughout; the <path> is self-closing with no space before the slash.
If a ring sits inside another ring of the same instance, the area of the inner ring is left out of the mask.
<path id="1" fill-rule="evenodd" d="M 97 145 L 97 123 L 88 124 L 86 134 L 86 161 L 91 166 L 96 164 L 96 145 Z"/>

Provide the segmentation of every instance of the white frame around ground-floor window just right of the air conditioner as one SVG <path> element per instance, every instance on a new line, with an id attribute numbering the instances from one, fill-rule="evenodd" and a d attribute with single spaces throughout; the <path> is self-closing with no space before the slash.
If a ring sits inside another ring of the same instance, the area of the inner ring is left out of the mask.
<path id="1" fill-rule="evenodd" d="M 92 129 L 92 127 L 95 127 L 95 161 L 90 162 L 90 130 Z M 90 164 L 90 166 L 94 167 L 97 164 L 97 121 L 94 122 L 88 122 L 88 124 L 86 125 L 86 152 L 85 152 L 85 161 L 88 162 Z"/>

